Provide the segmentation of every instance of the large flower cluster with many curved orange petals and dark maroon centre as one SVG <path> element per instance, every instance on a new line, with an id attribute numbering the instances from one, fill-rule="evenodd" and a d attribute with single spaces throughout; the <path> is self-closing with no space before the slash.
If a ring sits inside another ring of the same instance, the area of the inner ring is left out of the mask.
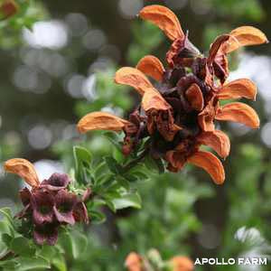
<path id="1" fill-rule="evenodd" d="M 255 100 L 257 88 L 249 79 L 227 82 L 228 54 L 245 45 L 267 42 L 266 35 L 255 27 L 241 26 L 220 35 L 204 56 L 190 42 L 188 33 L 171 10 L 161 5 L 148 5 L 139 16 L 155 23 L 173 41 L 166 53 L 167 67 L 154 56 L 145 56 L 136 68 L 117 71 L 115 81 L 128 85 L 142 96 L 141 104 L 125 120 L 105 112 L 82 117 L 80 133 L 89 130 L 124 131 L 123 153 L 130 154 L 143 139 L 154 157 L 163 158 L 171 172 L 184 164 L 201 167 L 214 182 L 225 180 L 223 165 L 214 154 L 202 151 L 212 148 L 221 158 L 229 155 L 229 137 L 216 128 L 215 121 L 234 121 L 251 128 L 259 126 L 257 113 L 241 102 L 220 100 L 248 98 Z M 147 78 L 154 79 L 154 85 Z"/>

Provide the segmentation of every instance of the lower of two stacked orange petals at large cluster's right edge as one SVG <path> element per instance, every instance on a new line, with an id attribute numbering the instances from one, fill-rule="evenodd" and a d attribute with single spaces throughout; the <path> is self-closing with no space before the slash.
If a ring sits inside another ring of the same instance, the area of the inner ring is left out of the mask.
<path id="1" fill-rule="evenodd" d="M 239 102 L 220 107 L 216 119 L 239 122 L 254 129 L 258 128 L 260 123 L 255 110 Z"/>

